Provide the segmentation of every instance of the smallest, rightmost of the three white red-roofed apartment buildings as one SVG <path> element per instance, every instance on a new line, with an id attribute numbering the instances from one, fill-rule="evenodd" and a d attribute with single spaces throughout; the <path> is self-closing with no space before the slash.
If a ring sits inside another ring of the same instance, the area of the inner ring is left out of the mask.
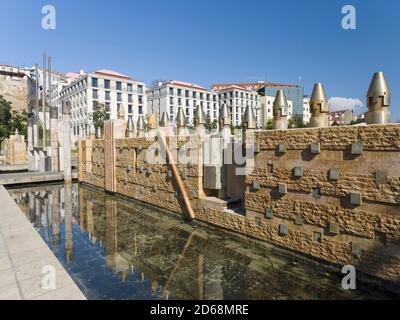
<path id="1" fill-rule="evenodd" d="M 252 106 L 257 117 L 258 127 L 261 127 L 260 101 L 257 91 L 247 90 L 243 87 L 231 85 L 220 89 L 214 88 L 218 93 L 219 105 L 226 104 L 232 117 L 234 127 L 242 124 L 242 117 L 247 106 Z"/>

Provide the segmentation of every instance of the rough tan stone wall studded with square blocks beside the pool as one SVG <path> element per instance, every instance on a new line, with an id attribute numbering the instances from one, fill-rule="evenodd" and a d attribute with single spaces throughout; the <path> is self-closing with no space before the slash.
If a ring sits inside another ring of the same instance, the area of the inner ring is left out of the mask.
<path id="1" fill-rule="evenodd" d="M 115 141 L 116 192 L 182 214 L 169 166 L 147 162 L 155 142 Z M 196 219 L 400 283 L 400 125 L 256 131 L 254 142 L 245 214 L 205 197 L 201 163 L 178 165 Z M 104 140 L 82 141 L 79 155 L 80 181 L 105 188 Z"/>

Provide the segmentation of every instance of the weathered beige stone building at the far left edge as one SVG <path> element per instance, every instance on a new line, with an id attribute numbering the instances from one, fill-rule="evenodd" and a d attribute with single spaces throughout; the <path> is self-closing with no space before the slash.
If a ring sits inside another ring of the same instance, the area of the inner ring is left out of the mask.
<path id="1" fill-rule="evenodd" d="M 36 82 L 23 69 L 0 65 L 0 95 L 13 111 L 28 111 L 36 103 Z"/>

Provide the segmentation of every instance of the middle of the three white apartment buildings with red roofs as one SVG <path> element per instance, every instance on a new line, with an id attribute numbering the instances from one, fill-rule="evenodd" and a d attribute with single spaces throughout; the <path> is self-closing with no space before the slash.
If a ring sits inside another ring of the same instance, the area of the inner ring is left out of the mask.
<path id="1" fill-rule="evenodd" d="M 171 124 L 175 123 L 178 107 L 183 107 L 186 124 L 193 125 L 196 107 L 203 107 L 211 122 L 218 120 L 219 104 L 217 93 L 194 83 L 170 80 L 160 82 L 156 88 L 147 90 L 148 114 L 155 114 L 160 120 L 164 112 L 168 113 Z"/>

